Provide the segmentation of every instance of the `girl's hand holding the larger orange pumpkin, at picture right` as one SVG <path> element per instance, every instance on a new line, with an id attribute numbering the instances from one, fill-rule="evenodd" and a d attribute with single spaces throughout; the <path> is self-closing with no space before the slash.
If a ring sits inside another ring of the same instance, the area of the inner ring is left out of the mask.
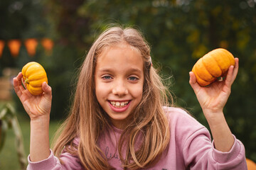
<path id="1" fill-rule="evenodd" d="M 231 93 L 231 85 L 235 81 L 237 74 L 238 58 L 235 58 L 235 67 L 230 66 L 227 77 L 223 81 L 215 81 L 205 87 L 197 83 L 196 76 L 193 72 L 189 72 L 189 84 L 191 84 L 205 115 L 223 113 L 223 108 Z"/>

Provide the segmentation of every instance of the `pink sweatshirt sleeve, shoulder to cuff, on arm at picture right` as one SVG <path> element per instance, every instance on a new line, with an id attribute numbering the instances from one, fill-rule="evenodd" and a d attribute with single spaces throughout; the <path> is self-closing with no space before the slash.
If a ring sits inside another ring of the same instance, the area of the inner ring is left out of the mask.
<path id="1" fill-rule="evenodd" d="M 246 170 L 245 147 L 234 137 L 229 152 L 220 152 L 214 147 L 209 130 L 186 111 L 169 108 L 171 142 L 175 142 L 176 159 L 191 170 L 232 169 Z M 181 154 L 181 157 L 179 157 Z"/>

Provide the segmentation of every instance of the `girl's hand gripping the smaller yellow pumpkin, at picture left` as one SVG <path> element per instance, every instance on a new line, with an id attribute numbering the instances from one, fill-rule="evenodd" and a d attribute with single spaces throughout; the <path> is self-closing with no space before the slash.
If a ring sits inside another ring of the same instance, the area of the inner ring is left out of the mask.
<path id="1" fill-rule="evenodd" d="M 27 89 L 24 89 L 22 83 L 22 73 L 18 73 L 18 76 L 14 78 L 14 90 L 21 100 L 26 113 L 28 113 L 31 120 L 36 120 L 38 118 L 48 117 L 50 115 L 50 108 L 52 102 L 52 90 L 46 82 L 43 82 L 42 89 L 43 94 L 32 95 Z"/>

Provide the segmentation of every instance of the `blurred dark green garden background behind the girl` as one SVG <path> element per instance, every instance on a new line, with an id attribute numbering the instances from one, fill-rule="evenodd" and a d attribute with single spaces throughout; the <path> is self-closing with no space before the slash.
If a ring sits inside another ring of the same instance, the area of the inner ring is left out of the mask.
<path id="1" fill-rule="evenodd" d="M 207 128 L 188 84 L 188 72 L 198 58 L 217 47 L 238 57 L 240 69 L 225 117 L 233 134 L 245 145 L 246 157 L 256 162 L 255 0 L 1 0 L 0 109 L 6 104 L 14 108 L 26 156 L 29 119 L 14 94 L 12 78 L 27 62 L 39 62 L 46 69 L 53 88 L 51 141 L 68 114 L 80 64 L 97 35 L 113 23 L 142 31 L 151 45 L 154 67 L 166 79 L 176 105 L 186 108 Z M 48 43 L 43 42 L 46 38 Z M 16 54 L 9 46 L 11 40 L 20 45 L 13 45 Z M 2 138 L 3 170 L 22 169 L 13 129 L 9 125 Z"/>

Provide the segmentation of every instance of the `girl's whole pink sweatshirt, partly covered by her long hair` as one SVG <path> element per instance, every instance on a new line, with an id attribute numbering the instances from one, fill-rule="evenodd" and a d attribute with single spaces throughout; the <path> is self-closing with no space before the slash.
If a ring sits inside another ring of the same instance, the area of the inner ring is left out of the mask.
<path id="1" fill-rule="evenodd" d="M 165 108 L 167 111 L 167 108 Z M 208 130 L 198 121 L 180 108 L 168 108 L 171 139 L 169 147 L 161 155 L 161 159 L 151 170 L 169 169 L 247 169 L 245 148 L 242 142 L 235 138 L 235 143 L 229 152 L 220 152 L 214 148 Z M 105 153 L 108 162 L 115 169 L 122 169 L 116 148 L 115 137 L 122 130 L 114 128 L 110 133 L 102 134 L 99 146 Z M 79 138 L 75 139 L 78 144 Z M 80 160 L 68 152 L 63 152 L 60 164 L 57 157 L 50 151 L 50 156 L 41 162 L 31 162 L 28 156 L 28 170 L 36 169 L 82 169 Z"/>

